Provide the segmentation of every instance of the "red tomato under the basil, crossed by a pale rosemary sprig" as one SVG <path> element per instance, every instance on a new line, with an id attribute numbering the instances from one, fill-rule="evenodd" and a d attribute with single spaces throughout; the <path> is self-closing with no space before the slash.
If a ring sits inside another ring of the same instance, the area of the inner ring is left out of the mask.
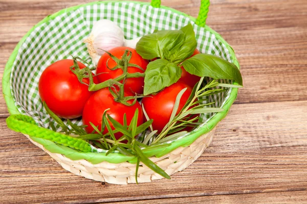
<path id="1" fill-rule="evenodd" d="M 143 98 L 142 104 L 144 105 L 144 109 L 148 117 L 153 119 L 153 130 L 158 130 L 158 133 L 161 133 L 163 127 L 168 123 L 170 119 L 177 95 L 182 89 L 186 87 L 187 90 L 181 97 L 178 111 L 176 113 L 178 114 L 192 92 L 191 87 L 183 82 L 174 83 L 156 95 L 151 95 L 151 97 Z"/>

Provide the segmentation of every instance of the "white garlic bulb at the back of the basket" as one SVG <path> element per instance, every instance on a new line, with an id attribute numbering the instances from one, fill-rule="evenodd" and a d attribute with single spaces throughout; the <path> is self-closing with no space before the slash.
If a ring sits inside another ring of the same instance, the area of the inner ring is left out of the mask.
<path id="1" fill-rule="evenodd" d="M 126 40 L 123 31 L 115 22 L 102 19 L 95 22 L 90 37 L 85 39 L 84 42 L 87 43 L 87 51 L 93 62 L 97 64 L 104 54 L 103 50 L 110 50 L 120 46 L 136 48 L 139 40 L 140 38 Z"/>

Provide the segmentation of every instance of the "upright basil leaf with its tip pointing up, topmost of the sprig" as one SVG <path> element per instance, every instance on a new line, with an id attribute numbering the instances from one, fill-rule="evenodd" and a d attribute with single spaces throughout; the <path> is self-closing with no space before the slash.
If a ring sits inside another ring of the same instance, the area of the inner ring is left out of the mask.
<path id="1" fill-rule="evenodd" d="M 197 45 L 195 33 L 191 23 L 187 24 L 180 30 L 184 33 L 184 42 L 175 53 L 167 58 L 170 62 L 176 64 L 179 64 L 190 57 Z"/>

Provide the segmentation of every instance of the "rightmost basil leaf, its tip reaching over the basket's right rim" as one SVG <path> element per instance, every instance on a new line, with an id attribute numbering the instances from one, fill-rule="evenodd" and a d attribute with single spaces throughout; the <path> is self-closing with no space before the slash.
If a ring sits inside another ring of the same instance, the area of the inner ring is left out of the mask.
<path id="1" fill-rule="evenodd" d="M 198 54 L 182 63 L 187 72 L 199 77 L 234 80 L 243 85 L 239 69 L 232 63 L 213 55 Z"/>

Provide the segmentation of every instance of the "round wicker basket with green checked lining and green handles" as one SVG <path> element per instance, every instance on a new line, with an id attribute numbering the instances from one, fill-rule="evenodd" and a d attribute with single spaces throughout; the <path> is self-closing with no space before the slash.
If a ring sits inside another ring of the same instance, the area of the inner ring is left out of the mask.
<path id="1" fill-rule="evenodd" d="M 26 135 L 33 144 L 74 174 L 112 184 L 135 183 L 136 158 L 117 151 L 107 156 L 104 150 L 93 152 L 91 144 L 86 141 L 50 129 L 50 123 L 54 121 L 43 109 L 38 95 L 40 73 L 52 62 L 70 58 L 71 54 L 87 59 L 89 56 L 83 40 L 89 35 L 93 23 L 100 18 L 117 22 L 127 39 L 152 33 L 156 29 L 179 29 L 191 23 L 202 53 L 220 56 L 239 67 L 229 44 L 205 25 L 208 7 L 209 0 L 202 0 L 199 17 L 195 19 L 160 6 L 160 0 L 152 0 L 151 4 L 104 1 L 68 8 L 48 16 L 21 39 L 5 67 L 3 91 L 11 114 L 7 125 Z M 231 83 L 228 80 L 223 82 Z M 182 171 L 209 146 L 217 123 L 227 115 L 236 95 L 237 89 L 230 88 L 227 92 L 208 97 L 209 102 L 215 101 L 212 107 L 221 107 L 224 111 L 202 115 L 203 124 L 195 130 L 168 141 L 169 146 L 147 151 L 145 155 L 169 175 Z M 77 119 L 73 122 L 81 123 Z M 56 128 L 60 130 L 59 126 Z M 159 179 L 162 176 L 140 163 L 138 182 Z"/>

